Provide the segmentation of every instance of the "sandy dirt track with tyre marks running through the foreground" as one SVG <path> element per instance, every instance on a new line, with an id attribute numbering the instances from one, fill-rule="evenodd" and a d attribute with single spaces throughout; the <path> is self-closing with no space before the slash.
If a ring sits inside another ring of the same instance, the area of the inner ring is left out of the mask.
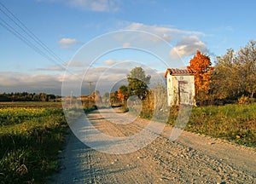
<path id="1" fill-rule="evenodd" d="M 88 115 L 90 122 L 112 136 L 137 134 L 148 120 L 112 124 L 113 113 L 103 110 Z M 120 114 L 121 120 L 134 118 Z M 84 146 L 72 133 L 61 152 L 62 170 L 49 183 L 256 183 L 256 152 L 226 141 L 183 131 L 170 141 L 172 131 L 164 131 L 147 147 L 126 154 L 97 152 Z"/>

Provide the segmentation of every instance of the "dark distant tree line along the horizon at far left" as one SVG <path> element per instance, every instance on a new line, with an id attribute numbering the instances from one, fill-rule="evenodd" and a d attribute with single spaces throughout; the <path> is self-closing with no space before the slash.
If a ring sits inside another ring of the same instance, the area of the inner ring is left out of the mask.
<path id="1" fill-rule="evenodd" d="M 58 101 L 61 96 L 45 93 L 3 93 L 0 94 L 0 101 Z"/>

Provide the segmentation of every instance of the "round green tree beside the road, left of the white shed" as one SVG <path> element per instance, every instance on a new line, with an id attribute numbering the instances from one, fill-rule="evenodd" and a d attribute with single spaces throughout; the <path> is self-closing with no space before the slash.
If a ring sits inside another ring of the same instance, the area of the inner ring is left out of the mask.
<path id="1" fill-rule="evenodd" d="M 150 75 L 146 76 L 142 67 L 133 68 L 130 74 L 127 75 L 128 96 L 137 95 L 139 98 L 144 99 L 148 94 L 148 84 L 150 78 Z"/>

